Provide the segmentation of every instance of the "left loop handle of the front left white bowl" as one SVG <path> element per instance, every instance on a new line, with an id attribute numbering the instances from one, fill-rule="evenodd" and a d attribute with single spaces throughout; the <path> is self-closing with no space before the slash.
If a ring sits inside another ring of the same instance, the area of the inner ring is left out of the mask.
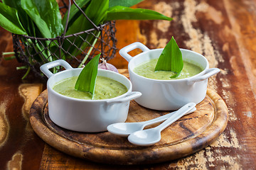
<path id="1" fill-rule="evenodd" d="M 40 69 L 41 72 L 43 72 L 43 74 L 46 75 L 46 77 L 50 78 L 53 75 L 53 73 L 50 72 L 49 69 L 57 66 L 62 66 L 65 69 L 73 69 L 73 67 L 71 67 L 70 64 L 68 64 L 68 62 L 66 62 L 65 60 L 55 60 L 53 62 L 48 62 L 46 64 L 41 65 Z"/>

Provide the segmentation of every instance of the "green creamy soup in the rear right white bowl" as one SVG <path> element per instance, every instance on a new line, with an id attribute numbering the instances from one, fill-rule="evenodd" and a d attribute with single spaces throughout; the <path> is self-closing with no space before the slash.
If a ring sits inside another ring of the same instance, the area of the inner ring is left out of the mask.
<path id="1" fill-rule="evenodd" d="M 185 79 L 188 77 L 193 77 L 194 75 L 203 71 L 203 69 L 201 69 L 201 67 L 198 67 L 196 64 L 183 61 L 183 69 L 181 71 L 181 74 L 176 78 L 170 78 L 171 76 L 175 75 L 174 72 L 154 71 L 157 60 L 158 59 L 156 58 L 153 60 L 149 60 L 149 62 L 140 64 L 139 66 L 135 67 L 133 71 L 142 77 L 159 80 Z"/>

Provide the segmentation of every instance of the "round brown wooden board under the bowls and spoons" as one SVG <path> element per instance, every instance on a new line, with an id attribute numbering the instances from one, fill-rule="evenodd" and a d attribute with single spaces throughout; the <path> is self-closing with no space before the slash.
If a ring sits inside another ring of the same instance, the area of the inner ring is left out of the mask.
<path id="1" fill-rule="evenodd" d="M 110 132 L 85 133 L 65 130 L 48 115 L 47 91 L 31 106 L 33 130 L 46 143 L 66 154 L 107 164 L 153 164 L 186 157 L 210 145 L 228 123 L 228 108 L 218 94 L 208 89 L 197 110 L 183 116 L 161 132 L 161 141 L 150 147 L 129 143 Z M 154 111 L 131 101 L 127 122 L 140 122 L 168 112 Z"/>

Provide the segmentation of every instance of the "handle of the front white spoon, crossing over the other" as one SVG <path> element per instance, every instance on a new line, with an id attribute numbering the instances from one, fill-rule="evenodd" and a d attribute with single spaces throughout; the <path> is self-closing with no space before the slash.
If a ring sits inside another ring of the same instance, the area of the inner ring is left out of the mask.
<path id="1" fill-rule="evenodd" d="M 161 123 L 161 125 L 157 126 L 156 129 L 160 130 L 160 132 L 161 132 L 161 130 L 164 130 L 165 128 L 167 128 L 169 125 L 171 125 L 171 123 L 174 123 L 176 120 L 181 118 L 183 115 L 186 115 L 186 113 L 191 111 L 191 109 L 193 109 L 195 106 L 196 106 L 196 103 L 186 104 L 182 108 L 178 109 L 178 111 L 176 111 L 175 114 L 170 115 L 169 118 L 167 120 L 165 120 L 164 123 Z"/>

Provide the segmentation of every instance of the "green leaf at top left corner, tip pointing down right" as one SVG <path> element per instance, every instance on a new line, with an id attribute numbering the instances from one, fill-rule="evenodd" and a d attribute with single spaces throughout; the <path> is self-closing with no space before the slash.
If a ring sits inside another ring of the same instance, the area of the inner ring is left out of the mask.
<path id="1" fill-rule="evenodd" d="M 18 19 L 17 10 L 3 3 L 0 3 L 0 26 L 11 33 L 26 35 L 26 31 Z"/>

